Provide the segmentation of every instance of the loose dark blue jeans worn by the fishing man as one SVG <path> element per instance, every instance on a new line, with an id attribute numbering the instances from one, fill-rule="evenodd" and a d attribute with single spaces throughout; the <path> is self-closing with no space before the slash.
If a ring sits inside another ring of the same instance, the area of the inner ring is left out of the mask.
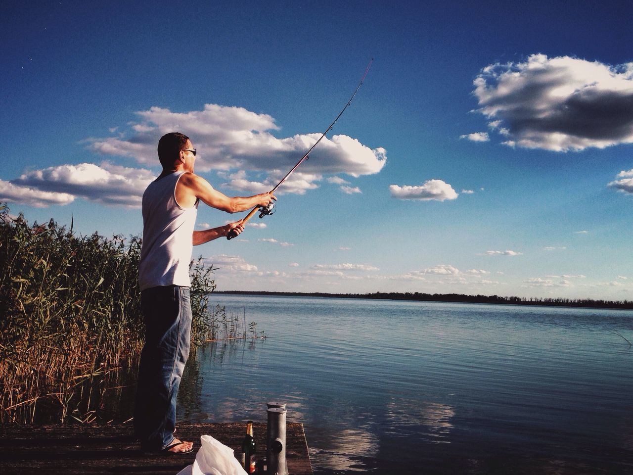
<path id="1" fill-rule="evenodd" d="M 145 345 L 134 405 L 134 431 L 141 450 L 159 452 L 174 440 L 176 399 L 191 344 L 189 287 L 153 287 L 141 292 Z"/>

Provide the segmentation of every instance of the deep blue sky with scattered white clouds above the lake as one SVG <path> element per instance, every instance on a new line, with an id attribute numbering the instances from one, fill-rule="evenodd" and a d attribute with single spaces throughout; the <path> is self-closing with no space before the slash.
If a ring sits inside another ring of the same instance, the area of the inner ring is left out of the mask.
<path id="1" fill-rule="evenodd" d="M 194 248 L 218 289 L 630 300 L 632 21 L 610 1 L 13 3 L 0 201 L 141 234 L 172 130 L 223 193 L 264 191 L 375 58 L 277 213 Z"/>

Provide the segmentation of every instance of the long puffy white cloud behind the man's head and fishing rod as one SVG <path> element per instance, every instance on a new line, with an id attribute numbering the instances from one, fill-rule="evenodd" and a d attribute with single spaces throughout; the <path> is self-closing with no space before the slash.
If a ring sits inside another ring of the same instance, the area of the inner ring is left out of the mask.
<path id="1" fill-rule="evenodd" d="M 277 138 L 275 120 L 241 107 L 207 104 L 201 111 L 172 112 L 153 107 L 137 112 L 127 139 L 121 137 L 87 139 L 92 150 L 105 155 L 130 156 L 139 163 L 158 165 L 156 144 L 161 135 L 181 130 L 198 149 L 196 169 L 247 170 L 265 177 L 253 180 L 246 175 L 227 185 L 237 190 L 268 191 L 319 139 L 320 133 Z M 291 175 L 281 193 L 305 193 L 316 187 L 322 175 L 347 174 L 352 177 L 376 174 L 387 160 L 384 148 L 371 149 L 344 135 L 325 137 L 301 164 L 303 181 Z M 291 180 L 293 179 L 293 180 Z M 272 186 L 271 186 L 272 185 Z"/>

